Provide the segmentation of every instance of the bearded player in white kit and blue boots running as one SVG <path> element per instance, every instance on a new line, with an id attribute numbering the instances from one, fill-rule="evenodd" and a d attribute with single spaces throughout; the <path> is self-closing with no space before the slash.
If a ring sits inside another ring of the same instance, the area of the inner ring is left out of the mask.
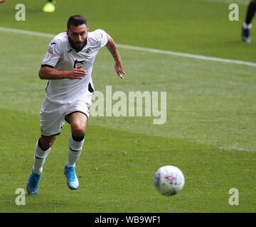
<path id="1" fill-rule="evenodd" d="M 85 127 L 92 104 L 92 65 L 100 48 L 106 46 L 114 58 L 114 69 L 123 79 L 122 61 L 114 40 L 105 31 L 89 32 L 80 15 L 68 19 L 68 30 L 50 41 L 39 77 L 48 79 L 46 98 L 41 108 L 41 138 L 36 143 L 33 168 L 27 182 L 28 194 L 38 192 L 43 164 L 65 121 L 70 123 L 68 160 L 64 166 L 70 189 L 78 189 L 75 173 L 85 140 Z"/>

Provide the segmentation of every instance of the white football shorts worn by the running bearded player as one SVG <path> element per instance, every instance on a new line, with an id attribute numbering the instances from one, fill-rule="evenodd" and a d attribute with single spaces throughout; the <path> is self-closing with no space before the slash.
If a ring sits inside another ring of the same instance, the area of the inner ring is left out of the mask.
<path id="1" fill-rule="evenodd" d="M 90 116 L 90 106 L 92 105 L 92 96 L 86 96 L 82 100 L 75 101 L 72 104 L 58 104 L 45 99 L 40 111 L 41 115 L 41 135 L 52 136 L 59 135 L 61 128 L 65 124 L 65 116 L 80 112 Z M 66 120 L 67 121 L 67 120 Z M 68 122 L 68 121 L 67 121 Z"/>

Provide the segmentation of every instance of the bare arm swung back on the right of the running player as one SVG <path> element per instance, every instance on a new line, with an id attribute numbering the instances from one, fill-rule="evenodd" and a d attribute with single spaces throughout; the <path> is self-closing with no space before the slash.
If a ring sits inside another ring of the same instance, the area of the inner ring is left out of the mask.
<path id="1" fill-rule="evenodd" d="M 117 72 L 118 76 L 121 79 L 124 79 L 122 74 L 125 74 L 124 70 L 122 69 L 122 60 L 117 50 L 117 46 L 114 43 L 114 40 L 111 38 L 110 35 L 107 35 L 107 49 L 110 50 L 112 56 L 114 57 L 114 70 Z"/>

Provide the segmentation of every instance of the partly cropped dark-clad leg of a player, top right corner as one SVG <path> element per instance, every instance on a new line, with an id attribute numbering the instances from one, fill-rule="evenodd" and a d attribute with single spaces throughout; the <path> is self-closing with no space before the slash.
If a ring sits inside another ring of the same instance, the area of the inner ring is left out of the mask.
<path id="1" fill-rule="evenodd" d="M 242 24 L 242 40 L 246 43 L 251 43 L 250 29 L 252 28 L 252 18 L 255 16 L 256 0 L 250 1 L 247 8 L 245 22 Z"/>

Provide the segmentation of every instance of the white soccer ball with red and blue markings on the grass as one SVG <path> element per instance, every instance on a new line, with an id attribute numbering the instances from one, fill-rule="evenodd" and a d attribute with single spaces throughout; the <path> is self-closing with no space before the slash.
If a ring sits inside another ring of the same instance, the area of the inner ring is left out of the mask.
<path id="1" fill-rule="evenodd" d="M 181 192 L 184 183 L 183 173 L 174 165 L 162 166 L 154 175 L 154 187 L 165 196 L 174 196 Z"/>

